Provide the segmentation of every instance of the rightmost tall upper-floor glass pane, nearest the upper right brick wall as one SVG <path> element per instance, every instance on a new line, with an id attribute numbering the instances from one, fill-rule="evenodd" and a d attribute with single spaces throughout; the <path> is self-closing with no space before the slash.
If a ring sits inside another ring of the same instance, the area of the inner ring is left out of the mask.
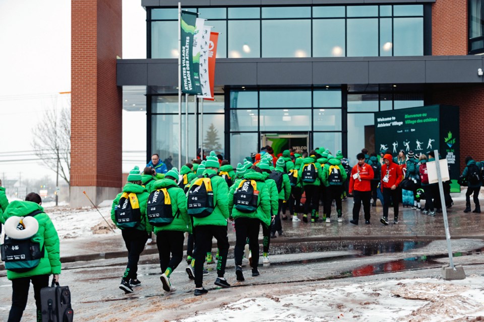
<path id="1" fill-rule="evenodd" d="M 423 55 L 423 18 L 393 20 L 394 56 Z"/>

